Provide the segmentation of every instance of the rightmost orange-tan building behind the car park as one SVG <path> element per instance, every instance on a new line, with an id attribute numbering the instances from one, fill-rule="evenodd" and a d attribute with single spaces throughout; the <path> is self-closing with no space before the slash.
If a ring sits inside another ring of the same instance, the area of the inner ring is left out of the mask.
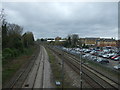
<path id="1" fill-rule="evenodd" d="M 117 46 L 117 41 L 115 39 L 99 39 L 96 41 L 97 47 L 106 47 L 106 46 Z"/>

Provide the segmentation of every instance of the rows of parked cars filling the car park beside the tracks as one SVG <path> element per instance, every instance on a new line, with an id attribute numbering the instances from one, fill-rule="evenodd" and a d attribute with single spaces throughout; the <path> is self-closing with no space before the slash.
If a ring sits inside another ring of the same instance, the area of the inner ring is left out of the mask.
<path id="1" fill-rule="evenodd" d="M 82 52 L 82 58 L 87 60 L 93 60 L 101 64 L 108 64 L 110 60 L 120 61 L 120 53 L 116 49 L 80 49 L 80 48 L 65 48 L 60 47 L 62 50 L 71 54 L 79 55 Z M 120 65 L 116 65 L 113 68 L 120 69 Z"/>

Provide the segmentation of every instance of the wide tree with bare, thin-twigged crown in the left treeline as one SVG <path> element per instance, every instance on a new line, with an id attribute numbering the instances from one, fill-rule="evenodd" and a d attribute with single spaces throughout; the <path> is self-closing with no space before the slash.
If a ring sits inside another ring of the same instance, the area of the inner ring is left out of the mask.
<path id="1" fill-rule="evenodd" d="M 23 28 L 17 24 L 8 24 L 7 25 L 7 47 L 9 48 L 16 48 L 19 50 L 23 50 L 23 43 L 22 43 L 22 31 Z"/>

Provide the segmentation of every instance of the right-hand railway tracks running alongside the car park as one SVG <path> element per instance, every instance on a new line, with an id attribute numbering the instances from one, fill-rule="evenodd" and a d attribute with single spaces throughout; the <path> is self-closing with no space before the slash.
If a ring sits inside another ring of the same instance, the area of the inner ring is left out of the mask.
<path id="1" fill-rule="evenodd" d="M 78 74 L 80 74 L 80 60 L 76 59 L 75 57 L 71 56 L 68 53 L 65 53 L 57 48 L 50 48 L 56 54 L 64 53 L 64 60 L 75 70 Z M 113 81 L 112 79 L 108 78 L 107 76 L 101 74 L 100 72 L 94 70 L 93 68 L 82 64 L 82 77 L 84 80 L 90 84 L 92 88 L 110 88 L 114 90 L 118 90 L 119 83 Z M 86 77 L 85 77 L 86 76 Z"/>

